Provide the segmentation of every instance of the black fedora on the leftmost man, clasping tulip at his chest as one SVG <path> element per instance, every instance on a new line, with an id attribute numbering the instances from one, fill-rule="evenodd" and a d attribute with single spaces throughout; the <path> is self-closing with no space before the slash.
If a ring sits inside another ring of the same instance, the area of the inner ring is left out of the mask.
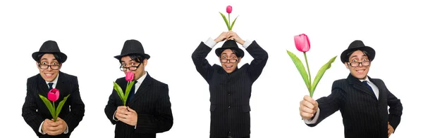
<path id="1" fill-rule="evenodd" d="M 68 59 L 68 56 L 66 56 L 65 53 L 61 53 L 59 46 L 57 46 L 56 41 L 45 41 L 44 43 L 42 43 L 41 48 L 39 48 L 38 52 L 32 53 L 32 58 L 35 61 L 38 61 L 38 55 L 39 54 L 44 54 L 44 53 L 53 53 L 56 55 L 59 55 L 59 57 L 61 58 L 61 62 L 66 62 L 66 59 Z"/>

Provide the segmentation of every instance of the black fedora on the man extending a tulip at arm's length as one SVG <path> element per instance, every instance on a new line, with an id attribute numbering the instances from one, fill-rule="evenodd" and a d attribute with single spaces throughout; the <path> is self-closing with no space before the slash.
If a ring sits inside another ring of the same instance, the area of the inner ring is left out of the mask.
<path id="1" fill-rule="evenodd" d="M 364 50 L 367 52 L 367 57 L 369 57 L 370 61 L 373 61 L 374 55 L 376 55 L 376 52 L 373 48 L 369 46 L 365 46 L 363 41 L 356 40 L 350 43 L 350 46 L 346 50 L 344 50 L 341 54 L 341 62 L 345 63 L 348 62 L 348 53 L 351 53 L 355 50 Z"/>

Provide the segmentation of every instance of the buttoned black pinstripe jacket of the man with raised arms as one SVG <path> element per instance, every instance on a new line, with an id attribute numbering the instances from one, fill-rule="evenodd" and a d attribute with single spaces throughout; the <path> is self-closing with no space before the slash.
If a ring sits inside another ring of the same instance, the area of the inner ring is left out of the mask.
<path id="1" fill-rule="evenodd" d="M 209 83 L 210 137 L 246 137 L 250 134 L 250 97 L 254 83 L 266 65 L 268 55 L 256 41 L 246 48 L 254 57 L 231 74 L 206 60 L 212 48 L 203 42 L 192 53 L 197 71 Z"/>

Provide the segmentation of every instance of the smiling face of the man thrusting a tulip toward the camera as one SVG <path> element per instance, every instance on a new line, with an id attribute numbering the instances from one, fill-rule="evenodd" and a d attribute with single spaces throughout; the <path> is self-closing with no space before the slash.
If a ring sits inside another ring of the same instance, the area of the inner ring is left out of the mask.
<path id="1" fill-rule="evenodd" d="M 350 55 L 348 62 L 345 62 L 344 64 L 347 69 L 350 69 L 350 73 L 355 78 L 365 79 L 367 78 L 367 73 L 369 73 L 370 62 L 371 61 L 369 60 L 369 57 L 367 57 L 363 51 L 356 50 L 353 54 Z M 355 67 L 355 64 L 358 64 L 357 67 Z"/>

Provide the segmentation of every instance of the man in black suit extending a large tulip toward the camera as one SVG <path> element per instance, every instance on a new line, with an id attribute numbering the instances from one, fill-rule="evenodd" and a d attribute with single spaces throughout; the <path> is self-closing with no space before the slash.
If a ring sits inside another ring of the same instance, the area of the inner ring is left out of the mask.
<path id="1" fill-rule="evenodd" d="M 300 102 L 300 116 L 308 126 L 316 126 L 339 110 L 345 137 L 386 138 L 396 130 L 403 105 L 384 81 L 367 76 L 374 55 L 374 49 L 362 41 L 350 43 L 341 54 L 341 62 L 350 70 L 348 78 L 334 81 L 328 97 L 314 101 L 306 95 Z"/>

